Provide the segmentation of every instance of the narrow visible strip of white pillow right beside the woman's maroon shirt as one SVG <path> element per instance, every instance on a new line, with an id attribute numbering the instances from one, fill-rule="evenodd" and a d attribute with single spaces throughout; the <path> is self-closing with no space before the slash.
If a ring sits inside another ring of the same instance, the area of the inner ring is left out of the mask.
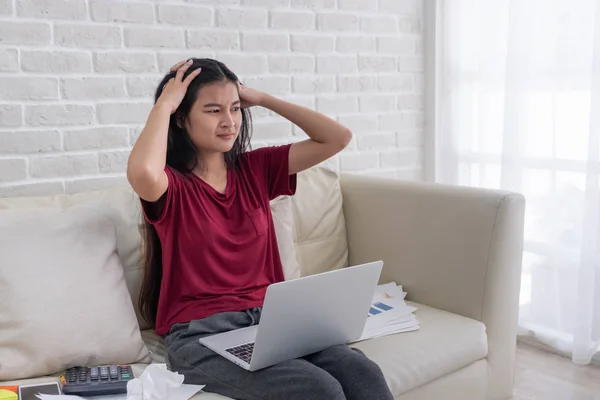
<path id="1" fill-rule="evenodd" d="M 271 201 L 271 214 L 277 237 L 277 247 L 283 265 L 285 280 L 297 279 L 302 275 L 300 263 L 296 258 L 294 244 L 294 214 L 292 200 L 289 196 L 280 196 Z"/>

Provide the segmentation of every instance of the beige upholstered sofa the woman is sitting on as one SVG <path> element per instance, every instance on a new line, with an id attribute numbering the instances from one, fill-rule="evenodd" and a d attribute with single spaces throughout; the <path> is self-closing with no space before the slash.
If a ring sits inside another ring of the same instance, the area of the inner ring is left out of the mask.
<path id="1" fill-rule="evenodd" d="M 316 173 L 324 178 L 313 179 Z M 117 238 L 135 246 L 127 250 L 123 244 L 119 253 L 135 299 L 141 277 L 135 237 L 139 209 L 129 188 L 0 199 L 0 209 L 85 201 L 114 206 L 124 198 L 131 198 L 131 209 L 121 213 L 129 222 Z M 418 308 L 420 330 L 356 344 L 381 366 L 396 399 L 511 397 L 522 196 L 355 175 L 338 179 L 329 172 L 309 171 L 299 178 L 292 201 L 296 257 L 303 274 L 382 259 L 381 283 L 403 285 L 407 299 Z M 129 236 L 124 239 L 124 234 Z M 161 339 L 142 320 L 140 329 L 152 360 L 163 362 Z M 143 368 L 136 364 L 136 375 Z M 56 378 L 0 385 L 49 379 Z M 197 397 L 223 398 L 206 393 Z"/>

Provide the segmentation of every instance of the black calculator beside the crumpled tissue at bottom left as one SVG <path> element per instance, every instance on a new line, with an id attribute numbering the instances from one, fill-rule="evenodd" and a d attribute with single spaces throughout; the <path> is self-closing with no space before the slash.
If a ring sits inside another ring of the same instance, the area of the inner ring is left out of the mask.
<path id="1" fill-rule="evenodd" d="M 85 397 L 127 393 L 127 382 L 133 378 L 130 365 L 101 365 L 69 368 L 60 381 L 64 394 Z"/>

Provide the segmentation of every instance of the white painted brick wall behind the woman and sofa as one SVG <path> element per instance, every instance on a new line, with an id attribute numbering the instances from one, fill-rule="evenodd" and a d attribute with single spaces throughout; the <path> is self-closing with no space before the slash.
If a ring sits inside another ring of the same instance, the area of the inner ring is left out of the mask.
<path id="1" fill-rule="evenodd" d="M 187 57 L 355 133 L 327 166 L 422 178 L 422 0 L 0 0 L 0 196 L 125 182 L 156 84 Z M 254 110 L 253 144 L 303 139 Z"/>

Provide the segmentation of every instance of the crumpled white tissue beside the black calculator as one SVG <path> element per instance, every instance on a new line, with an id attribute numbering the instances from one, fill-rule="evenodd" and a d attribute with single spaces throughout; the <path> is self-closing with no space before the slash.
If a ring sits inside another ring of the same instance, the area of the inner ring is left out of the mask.
<path id="1" fill-rule="evenodd" d="M 187 400 L 204 386 L 186 385 L 183 375 L 166 364 L 150 364 L 139 378 L 127 382 L 127 400 Z"/>

